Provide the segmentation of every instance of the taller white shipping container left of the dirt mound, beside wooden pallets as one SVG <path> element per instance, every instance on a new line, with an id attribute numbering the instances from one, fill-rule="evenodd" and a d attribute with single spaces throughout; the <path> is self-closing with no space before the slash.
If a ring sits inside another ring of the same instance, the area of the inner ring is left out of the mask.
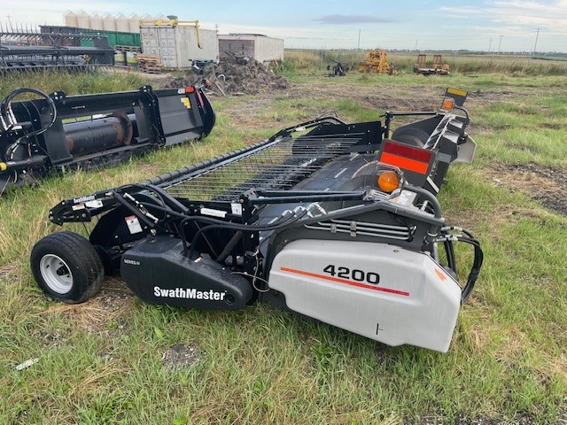
<path id="1" fill-rule="evenodd" d="M 167 69 L 187 69 L 195 60 L 219 61 L 216 31 L 190 26 L 147 25 L 140 27 L 145 55 L 159 56 Z"/>

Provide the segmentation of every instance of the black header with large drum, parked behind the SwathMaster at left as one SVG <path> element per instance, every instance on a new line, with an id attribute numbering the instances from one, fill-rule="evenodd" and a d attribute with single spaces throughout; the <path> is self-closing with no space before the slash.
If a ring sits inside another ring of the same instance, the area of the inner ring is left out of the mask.
<path id="1" fill-rule="evenodd" d="M 15 100 L 22 95 L 38 98 Z M 15 89 L 0 102 L 0 194 L 52 170 L 115 164 L 206 136 L 214 120 L 199 87 L 72 97 Z"/>

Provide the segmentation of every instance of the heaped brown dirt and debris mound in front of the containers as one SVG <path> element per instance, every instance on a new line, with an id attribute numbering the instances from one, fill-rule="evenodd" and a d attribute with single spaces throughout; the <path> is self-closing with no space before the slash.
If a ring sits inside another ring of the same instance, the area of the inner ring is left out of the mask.
<path id="1" fill-rule="evenodd" d="M 287 89 L 289 81 L 276 75 L 254 59 L 229 56 L 216 65 L 205 66 L 186 77 L 175 78 L 166 88 L 179 88 L 210 81 L 210 90 L 218 95 L 256 95 Z"/>

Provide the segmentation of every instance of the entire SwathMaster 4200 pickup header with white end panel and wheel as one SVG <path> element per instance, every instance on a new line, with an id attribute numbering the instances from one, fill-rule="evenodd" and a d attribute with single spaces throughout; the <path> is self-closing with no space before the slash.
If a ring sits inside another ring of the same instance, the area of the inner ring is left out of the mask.
<path id="1" fill-rule="evenodd" d="M 97 221 L 88 240 L 65 231 L 35 243 L 35 280 L 79 303 L 120 272 L 154 305 L 236 310 L 260 300 L 384 344 L 447 352 L 483 259 L 436 197 L 448 166 L 474 155 L 466 95 L 447 89 L 439 112 L 386 112 L 384 125 L 307 121 L 145 182 L 65 199 L 51 222 Z M 400 116 L 420 120 L 391 132 Z M 463 283 L 455 243 L 474 251 Z"/>

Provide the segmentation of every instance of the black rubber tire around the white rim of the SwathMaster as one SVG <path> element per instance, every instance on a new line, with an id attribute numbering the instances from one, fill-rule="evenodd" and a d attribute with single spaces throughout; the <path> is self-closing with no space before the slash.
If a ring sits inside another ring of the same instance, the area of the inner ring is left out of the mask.
<path id="1" fill-rule="evenodd" d="M 72 276 L 71 290 L 60 293 L 50 288 L 41 271 L 45 255 L 56 255 L 65 261 Z M 78 304 L 94 297 L 105 280 L 105 267 L 97 251 L 87 239 L 74 232 L 58 232 L 43 237 L 30 255 L 30 265 L 35 282 L 51 298 L 67 304 Z"/>

